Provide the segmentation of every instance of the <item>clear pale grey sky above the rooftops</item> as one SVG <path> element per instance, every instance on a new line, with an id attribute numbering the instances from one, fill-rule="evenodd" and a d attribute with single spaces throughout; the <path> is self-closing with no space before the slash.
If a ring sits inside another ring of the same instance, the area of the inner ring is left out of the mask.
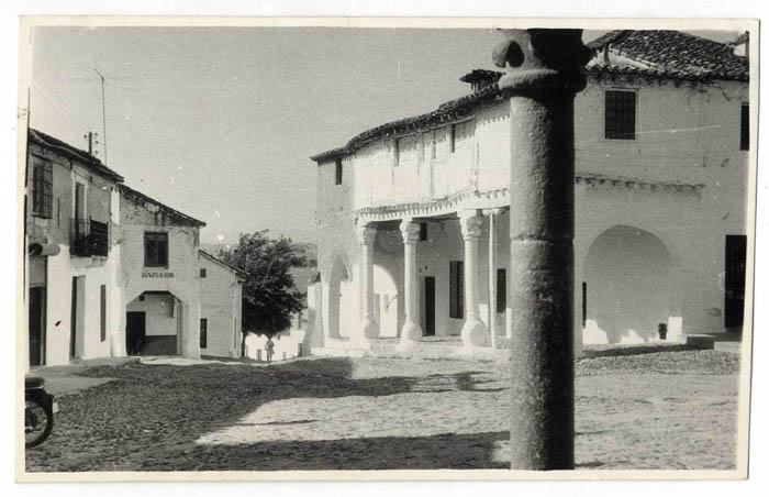
<path id="1" fill-rule="evenodd" d="M 36 27 L 31 126 L 81 148 L 99 133 L 99 158 L 204 221 L 203 243 L 264 229 L 312 242 L 309 157 L 467 93 L 458 78 L 494 69 L 499 40 L 488 29 Z"/>

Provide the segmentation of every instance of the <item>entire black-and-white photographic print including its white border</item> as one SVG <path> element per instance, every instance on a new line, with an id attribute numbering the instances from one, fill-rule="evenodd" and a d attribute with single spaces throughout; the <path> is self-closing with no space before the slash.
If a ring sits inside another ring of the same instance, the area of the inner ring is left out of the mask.
<path id="1" fill-rule="evenodd" d="M 746 478 L 758 33 L 21 18 L 16 478 Z"/>

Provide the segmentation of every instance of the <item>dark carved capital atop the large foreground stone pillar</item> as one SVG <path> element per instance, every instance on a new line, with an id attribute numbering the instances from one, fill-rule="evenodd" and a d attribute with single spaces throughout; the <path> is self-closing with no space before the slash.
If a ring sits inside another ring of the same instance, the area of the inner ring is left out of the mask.
<path id="1" fill-rule="evenodd" d="M 581 68 L 590 60 L 582 30 L 500 30 L 503 40 L 492 53 L 505 69 L 499 88 L 509 91 L 553 89 L 577 92 L 584 88 Z"/>

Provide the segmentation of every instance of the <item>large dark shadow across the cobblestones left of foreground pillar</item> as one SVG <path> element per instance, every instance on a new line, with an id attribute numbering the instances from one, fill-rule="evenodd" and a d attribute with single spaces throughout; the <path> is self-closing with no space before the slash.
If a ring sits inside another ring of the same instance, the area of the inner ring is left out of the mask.
<path id="1" fill-rule="evenodd" d="M 493 443 L 505 433 L 226 446 L 194 443 L 268 402 L 475 389 L 473 373 L 430 375 L 427 388 L 421 385 L 415 390 L 425 376 L 353 378 L 353 362 L 345 357 L 267 367 L 94 367 L 79 374 L 115 379 L 59 398 L 54 433 L 45 444 L 26 452 L 27 471 L 500 467 L 492 461 Z M 265 454 L 270 455 L 269 464 Z"/>

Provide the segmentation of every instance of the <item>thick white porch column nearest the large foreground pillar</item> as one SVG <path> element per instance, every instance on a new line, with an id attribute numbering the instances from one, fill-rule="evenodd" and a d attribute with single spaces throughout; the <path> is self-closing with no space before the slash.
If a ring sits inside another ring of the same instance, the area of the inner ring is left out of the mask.
<path id="1" fill-rule="evenodd" d="M 461 212 L 459 223 L 465 241 L 465 324 L 461 327 L 461 341 L 468 349 L 489 346 L 489 330 L 478 311 L 478 239 L 483 218 L 475 209 L 466 210 Z"/>

